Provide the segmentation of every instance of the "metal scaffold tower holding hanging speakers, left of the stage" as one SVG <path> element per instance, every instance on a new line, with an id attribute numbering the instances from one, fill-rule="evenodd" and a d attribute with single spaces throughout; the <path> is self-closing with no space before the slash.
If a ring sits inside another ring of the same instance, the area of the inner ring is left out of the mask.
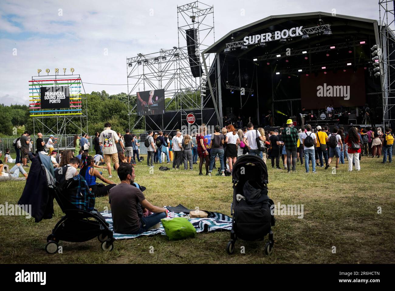
<path id="1" fill-rule="evenodd" d="M 139 116 L 135 124 L 130 124 L 130 115 L 137 114 L 137 104 L 132 104 L 130 97 L 134 96 L 136 92 L 151 89 L 165 90 L 165 100 L 171 98 L 165 110 L 166 112 L 172 112 L 173 118 L 177 118 L 177 114 L 181 112 L 180 124 L 186 124 L 186 115 L 190 113 L 189 110 L 199 112 L 195 114 L 197 124 L 203 122 L 202 110 L 206 108 L 209 101 L 208 98 L 205 98 L 207 74 L 203 73 L 199 78 L 192 76 L 186 45 L 185 30 L 187 29 L 197 29 L 196 55 L 200 56 L 200 51 L 215 42 L 213 6 L 199 1 L 177 6 L 178 47 L 160 49 L 158 52 L 149 54 L 138 53 L 137 57 L 126 59 L 129 128 L 131 130 L 144 116 Z M 209 74 L 213 71 L 211 70 Z M 167 110 L 170 106 L 174 108 Z M 154 122 L 149 115 L 146 115 L 145 118 Z M 174 130 L 174 128 L 169 128 L 168 124 L 163 123 L 163 118 L 162 124 L 155 123 L 156 129 Z"/>

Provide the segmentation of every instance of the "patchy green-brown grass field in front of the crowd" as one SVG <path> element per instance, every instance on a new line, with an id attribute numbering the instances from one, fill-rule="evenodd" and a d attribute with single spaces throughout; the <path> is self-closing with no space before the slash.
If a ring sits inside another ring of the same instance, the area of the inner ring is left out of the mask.
<path id="1" fill-rule="evenodd" d="M 297 173 L 269 167 L 269 196 L 275 204 L 303 204 L 304 217 L 277 216 L 273 227 L 275 245 L 270 256 L 264 242 L 236 242 L 235 254 L 226 253 L 229 232 L 197 234 L 193 239 L 170 242 L 166 236 L 115 241 L 103 252 L 97 239 L 84 243 L 60 242 L 62 254 L 45 252 L 46 238 L 62 217 L 55 203 L 53 219 L 0 216 L 2 263 L 394 263 L 395 262 L 395 164 L 363 157 L 361 171 L 336 173 L 317 168 L 306 174 L 300 163 Z M 346 162 L 348 163 L 348 162 Z M 217 162 L 218 164 L 218 162 Z M 280 162 L 281 164 L 281 162 Z M 157 206 L 186 207 L 230 215 L 231 177 L 198 176 L 193 171 L 149 173 L 144 163 L 136 167 L 136 182 L 146 186 L 147 200 Z M 12 166 L 12 165 L 11 165 Z M 108 177 L 107 171 L 104 173 Z M 119 182 L 116 174 L 113 181 Z M 17 204 L 25 182 L 0 182 L 0 204 Z M 96 208 L 110 208 L 107 197 L 96 199 Z M 378 207 L 382 213 L 378 214 Z M 154 252 L 150 253 L 150 246 Z M 245 253 L 240 253 L 240 247 Z M 333 246 L 336 253 L 333 253 Z"/>

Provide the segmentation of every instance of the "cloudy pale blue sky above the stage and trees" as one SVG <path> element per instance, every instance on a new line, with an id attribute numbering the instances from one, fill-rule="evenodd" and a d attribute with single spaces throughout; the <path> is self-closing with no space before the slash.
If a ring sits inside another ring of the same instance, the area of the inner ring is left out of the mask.
<path id="1" fill-rule="evenodd" d="M 324 11 L 378 19 L 377 0 L 203 0 L 214 6 L 215 39 L 270 15 Z M 37 69 L 74 68 L 86 93 L 127 93 L 127 57 L 178 46 L 185 0 L 0 0 L 0 103 L 28 104 Z M 180 39 L 181 40 L 181 39 Z M 184 39 L 182 39 L 185 41 Z M 185 44 L 180 44 L 184 46 Z M 50 73 L 50 74 L 51 74 Z M 42 75 L 42 73 L 41 73 Z"/>

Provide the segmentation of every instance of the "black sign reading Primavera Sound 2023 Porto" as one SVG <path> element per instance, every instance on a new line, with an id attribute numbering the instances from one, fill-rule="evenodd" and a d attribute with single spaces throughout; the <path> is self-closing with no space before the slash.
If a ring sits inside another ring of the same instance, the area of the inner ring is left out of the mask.
<path id="1" fill-rule="evenodd" d="M 68 86 L 40 87 L 41 109 L 69 108 L 70 95 Z"/>

